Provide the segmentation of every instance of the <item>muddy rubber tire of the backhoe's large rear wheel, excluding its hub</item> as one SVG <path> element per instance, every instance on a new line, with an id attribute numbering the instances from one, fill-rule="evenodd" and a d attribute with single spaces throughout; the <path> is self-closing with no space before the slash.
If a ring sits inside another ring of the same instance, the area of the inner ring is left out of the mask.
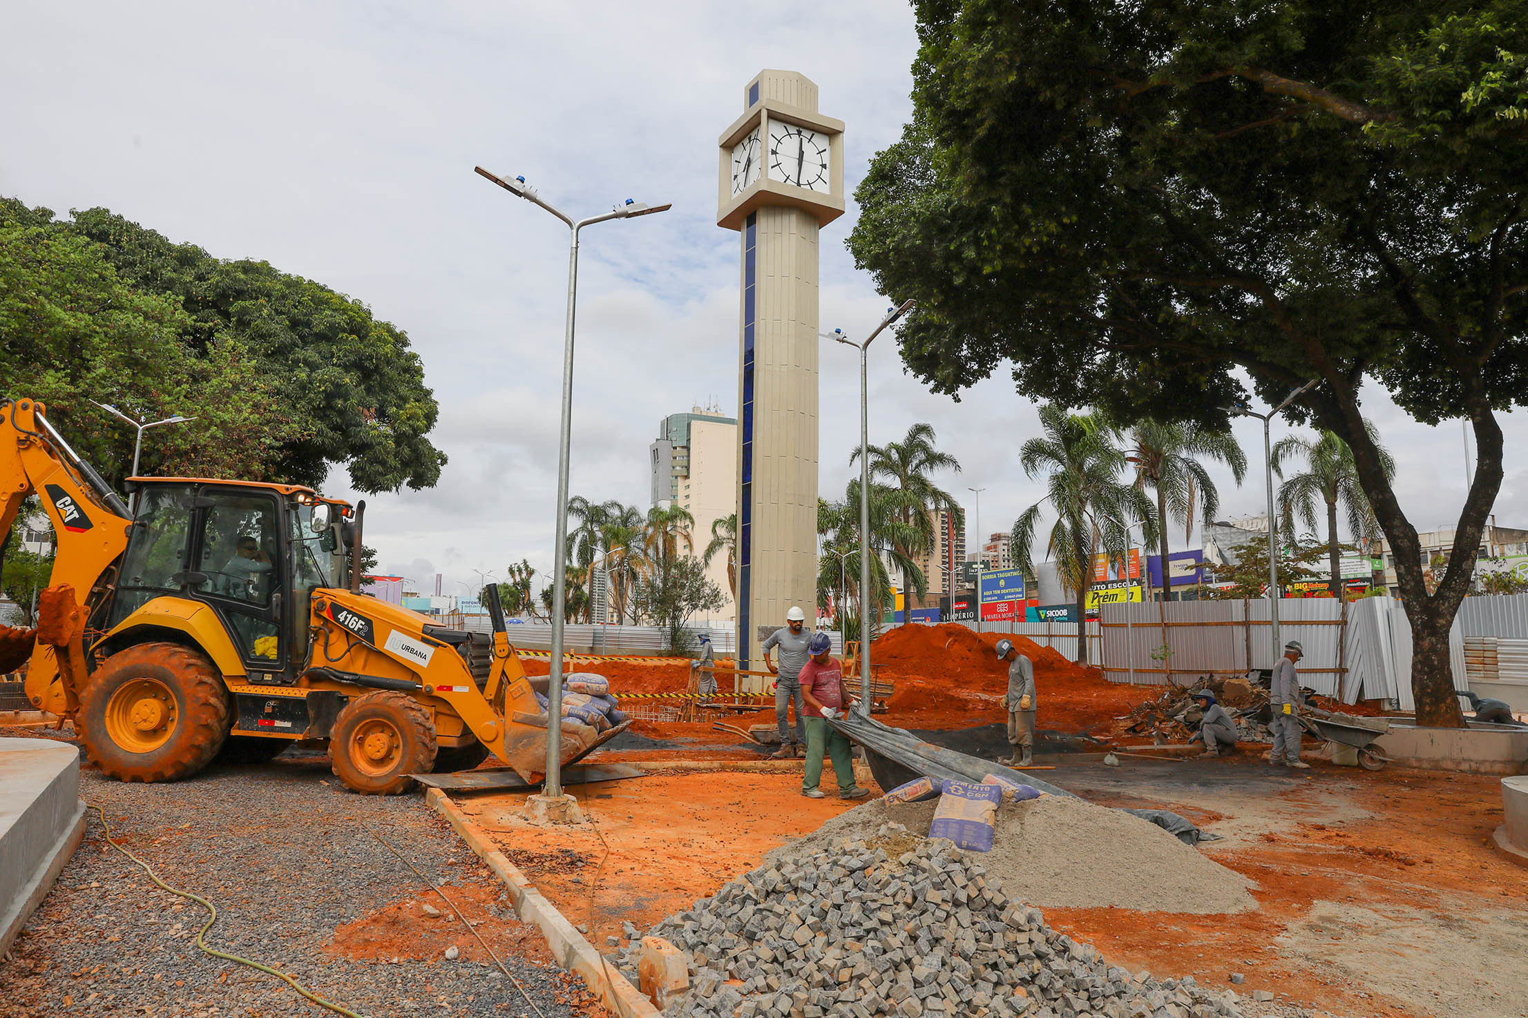
<path id="1" fill-rule="evenodd" d="M 113 694 L 128 682 L 151 679 L 170 691 L 176 719 L 163 745 L 145 752 L 113 742 L 105 722 Z M 228 736 L 228 687 L 199 650 L 145 643 L 119 650 L 90 678 L 79 704 L 86 755 L 119 781 L 177 781 L 217 755 Z"/>

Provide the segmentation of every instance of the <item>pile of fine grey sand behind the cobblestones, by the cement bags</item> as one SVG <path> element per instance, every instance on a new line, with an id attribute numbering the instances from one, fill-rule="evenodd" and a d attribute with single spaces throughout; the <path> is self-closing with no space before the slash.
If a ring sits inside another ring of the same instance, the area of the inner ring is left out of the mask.
<path id="1" fill-rule="evenodd" d="M 886 821 L 926 832 L 934 806 L 872 800 L 817 830 L 775 849 L 769 861 L 810 856 Z M 992 852 L 975 853 L 1002 890 L 1041 908 L 1132 908 L 1164 913 L 1239 913 L 1256 908 L 1251 881 L 1161 827 L 1118 809 L 1070 795 L 1004 803 Z"/>

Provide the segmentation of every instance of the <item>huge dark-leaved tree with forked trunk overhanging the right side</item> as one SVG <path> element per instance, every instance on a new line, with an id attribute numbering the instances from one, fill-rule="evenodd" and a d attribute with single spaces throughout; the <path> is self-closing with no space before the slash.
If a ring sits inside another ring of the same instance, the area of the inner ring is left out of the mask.
<path id="1" fill-rule="evenodd" d="M 1449 627 L 1528 398 L 1528 0 L 920 0 L 914 118 L 850 246 L 915 298 L 908 366 L 1134 421 L 1253 392 L 1354 452 L 1395 552 L 1418 719 L 1459 725 Z M 1360 412 L 1465 418 L 1435 591 Z"/>

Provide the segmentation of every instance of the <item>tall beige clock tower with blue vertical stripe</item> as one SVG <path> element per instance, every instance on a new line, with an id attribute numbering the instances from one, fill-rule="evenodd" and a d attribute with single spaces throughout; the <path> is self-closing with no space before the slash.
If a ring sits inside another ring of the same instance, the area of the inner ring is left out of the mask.
<path id="1" fill-rule="evenodd" d="M 761 70 L 720 139 L 717 224 L 741 234 L 738 667 L 817 610 L 817 229 L 843 215 L 843 122 L 817 85 Z M 744 688 L 744 687 L 740 687 Z"/>

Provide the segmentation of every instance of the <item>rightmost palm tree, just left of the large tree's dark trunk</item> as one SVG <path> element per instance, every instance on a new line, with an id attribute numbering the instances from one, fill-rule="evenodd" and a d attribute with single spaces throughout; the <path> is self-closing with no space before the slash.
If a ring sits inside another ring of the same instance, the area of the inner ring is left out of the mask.
<path id="1" fill-rule="evenodd" d="M 1395 459 L 1380 446 L 1380 433 L 1371 421 L 1363 423 L 1369 440 L 1380 450 L 1384 479 L 1395 476 Z M 1306 470 L 1279 485 L 1279 525 L 1285 533 L 1294 533 L 1294 513 L 1299 511 L 1305 525 L 1316 530 L 1316 504 L 1326 505 L 1326 556 L 1331 565 L 1332 597 L 1342 597 L 1342 545 L 1337 543 L 1337 507 L 1348 516 L 1348 533 L 1352 539 L 1369 540 L 1378 534 L 1374 508 L 1358 485 L 1358 467 L 1352 449 L 1334 432 L 1322 432 L 1314 443 L 1299 435 L 1280 438 L 1273 446 L 1273 472 L 1284 479 L 1284 461 L 1303 456 Z"/>

